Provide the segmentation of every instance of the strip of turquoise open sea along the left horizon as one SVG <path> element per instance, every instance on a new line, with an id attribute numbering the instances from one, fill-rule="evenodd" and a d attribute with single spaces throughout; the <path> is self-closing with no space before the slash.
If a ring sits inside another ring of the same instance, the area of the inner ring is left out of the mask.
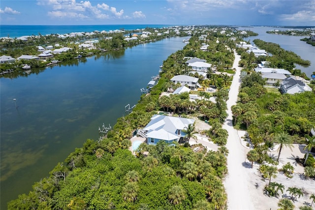
<path id="1" fill-rule="evenodd" d="M 149 28 L 162 28 L 170 25 L 71 25 L 71 26 L 26 26 L 26 25 L 0 25 L 0 37 L 10 36 L 11 38 L 23 35 L 50 35 L 68 34 L 71 32 L 94 32 L 109 30 L 135 30 Z"/>

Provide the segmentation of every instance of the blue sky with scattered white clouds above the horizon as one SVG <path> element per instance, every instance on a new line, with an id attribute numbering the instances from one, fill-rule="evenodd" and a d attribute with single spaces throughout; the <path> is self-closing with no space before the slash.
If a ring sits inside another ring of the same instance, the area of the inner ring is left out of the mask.
<path id="1" fill-rule="evenodd" d="M 1 0 L 0 24 L 314 26 L 315 0 Z"/>

